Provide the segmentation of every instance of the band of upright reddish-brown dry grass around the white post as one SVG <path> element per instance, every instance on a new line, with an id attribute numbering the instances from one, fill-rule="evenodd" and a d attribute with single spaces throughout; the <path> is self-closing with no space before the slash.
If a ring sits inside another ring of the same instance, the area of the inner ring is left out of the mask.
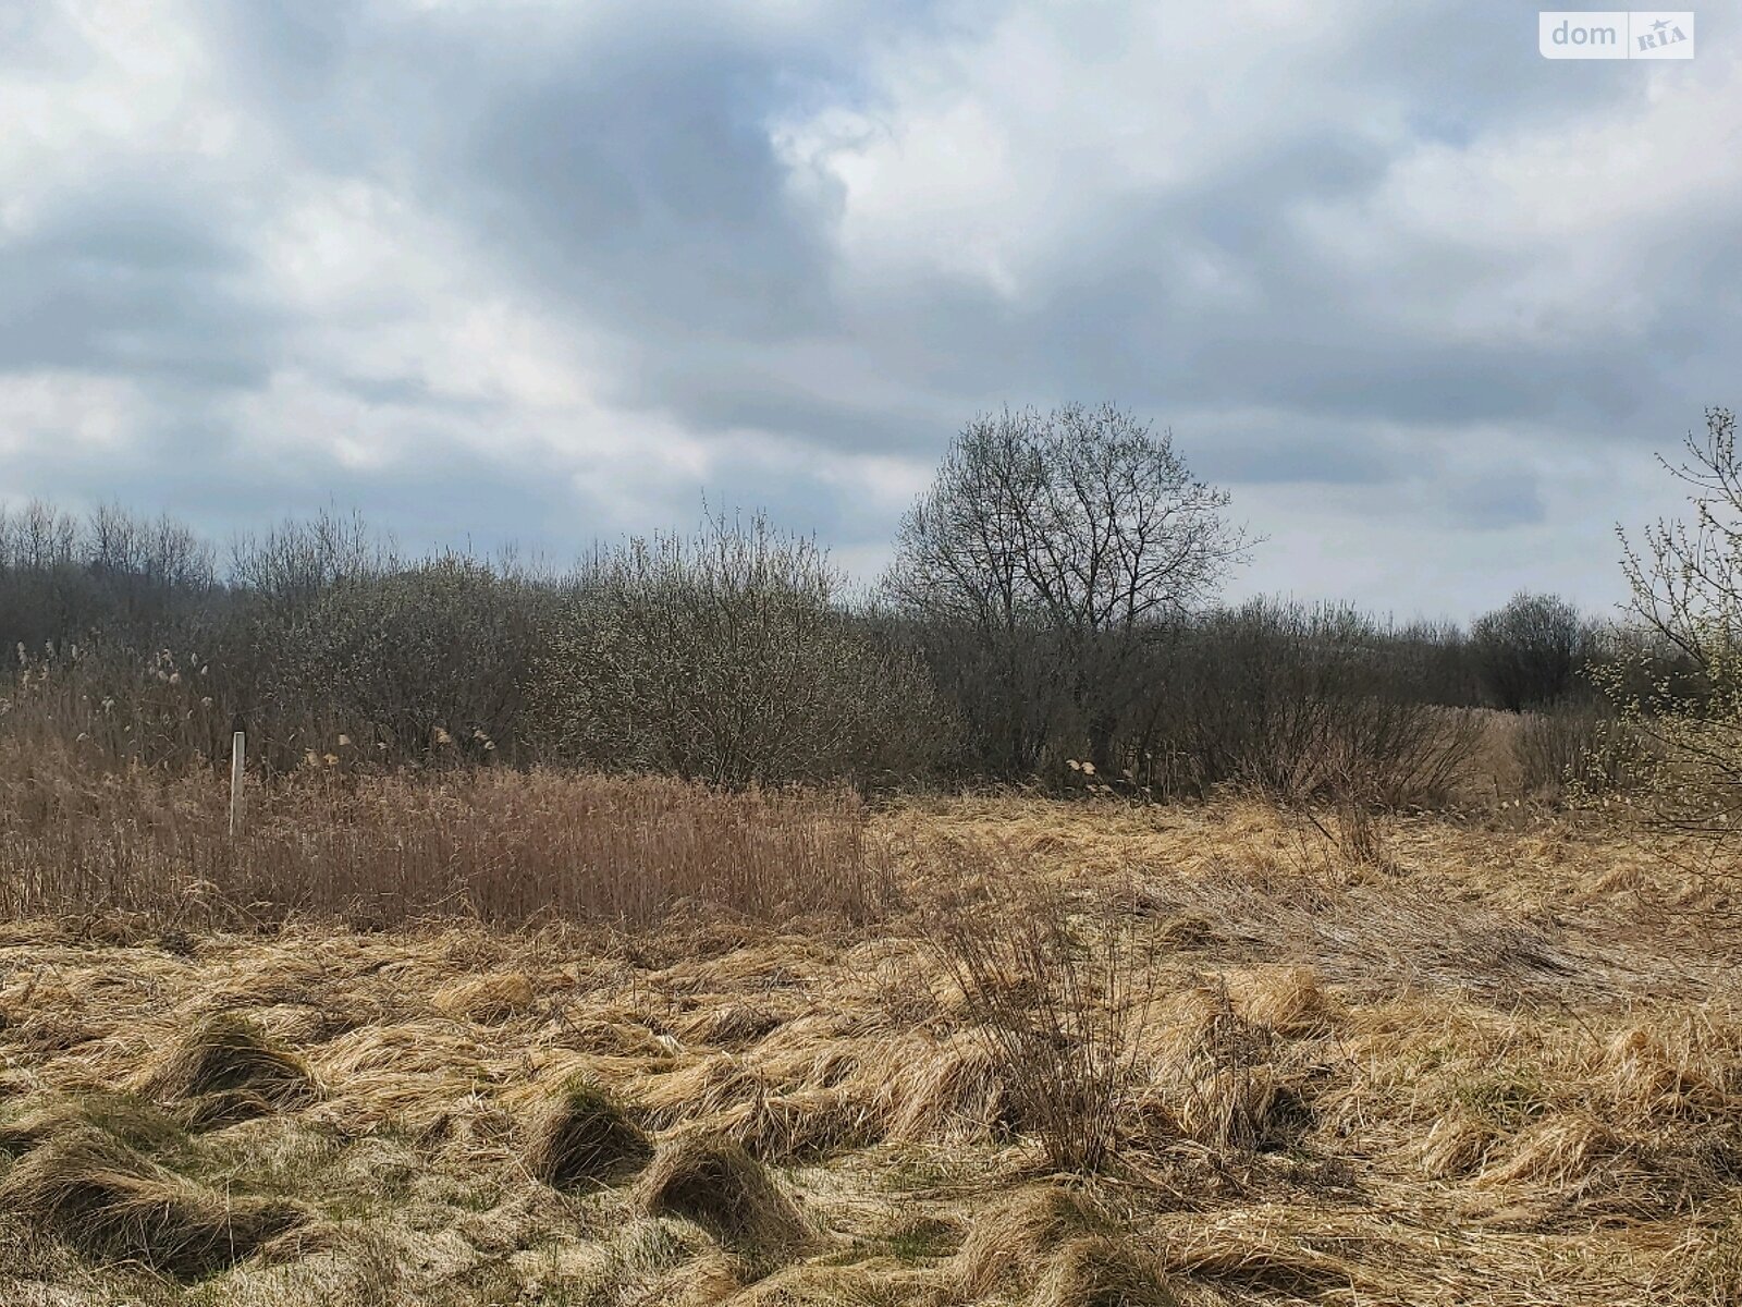
<path id="1" fill-rule="evenodd" d="M 866 922 L 890 863 L 861 802 L 657 777 L 456 770 L 251 777 L 228 835 L 209 770 L 99 774 L 0 749 L 0 917 L 145 913 L 394 927 L 423 917 L 650 924 L 685 903 L 758 920 Z"/>

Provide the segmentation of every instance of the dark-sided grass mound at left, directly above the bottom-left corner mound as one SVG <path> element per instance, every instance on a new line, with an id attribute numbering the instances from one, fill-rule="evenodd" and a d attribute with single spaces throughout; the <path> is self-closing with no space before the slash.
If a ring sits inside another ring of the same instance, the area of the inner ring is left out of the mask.
<path id="1" fill-rule="evenodd" d="M 226 1014 L 188 1030 L 134 1087 L 160 1101 L 192 1101 L 202 1124 L 303 1107 L 315 1098 L 301 1061 L 273 1047 L 253 1021 Z"/>

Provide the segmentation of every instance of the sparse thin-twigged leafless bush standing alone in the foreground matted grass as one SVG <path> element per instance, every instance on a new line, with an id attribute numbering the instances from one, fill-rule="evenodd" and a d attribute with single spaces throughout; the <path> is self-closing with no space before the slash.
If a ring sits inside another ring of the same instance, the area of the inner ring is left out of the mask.
<path id="1" fill-rule="evenodd" d="M 1073 915 L 1019 871 L 982 880 L 932 920 L 1021 1126 L 1061 1171 L 1108 1162 L 1136 1079 L 1153 971 L 1131 920 L 1106 906 Z"/>

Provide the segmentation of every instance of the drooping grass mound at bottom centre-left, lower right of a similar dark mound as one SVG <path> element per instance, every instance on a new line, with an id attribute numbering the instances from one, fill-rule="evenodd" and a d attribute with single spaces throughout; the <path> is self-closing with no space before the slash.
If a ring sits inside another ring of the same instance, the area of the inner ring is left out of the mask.
<path id="1" fill-rule="evenodd" d="M 793 1249 L 812 1241 L 793 1201 L 742 1145 L 714 1134 L 679 1136 L 641 1175 L 636 1206 L 683 1216 L 733 1249 Z"/>

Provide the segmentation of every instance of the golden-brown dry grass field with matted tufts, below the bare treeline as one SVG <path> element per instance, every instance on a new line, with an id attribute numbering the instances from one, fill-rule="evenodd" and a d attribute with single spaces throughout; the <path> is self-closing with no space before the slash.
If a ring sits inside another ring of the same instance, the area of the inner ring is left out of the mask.
<path id="1" fill-rule="evenodd" d="M 51 772 L 5 1304 L 1742 1302 L 1742 915 L 1613 830 Z"/>

